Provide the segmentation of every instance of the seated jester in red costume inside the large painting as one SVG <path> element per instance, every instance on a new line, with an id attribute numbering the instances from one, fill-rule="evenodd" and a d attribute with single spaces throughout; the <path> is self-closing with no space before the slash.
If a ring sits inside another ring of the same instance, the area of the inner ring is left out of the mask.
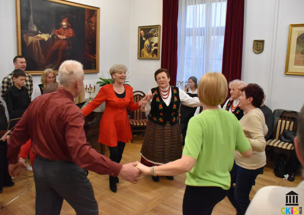
<path id="1" fill-rule="evenodd" d="M 58 55 L 58 66 L 61 62 L 61 57 L 63 50 L 67 49 L 68 47 L 68 41 L 67 39 L 75 36 L 74 30 L 71 28 L 70 23 L 67 22 L 68 19 L 65 18 L 60 23 L 61 28 L 54 30 L 54 35 L 58 37 L 59 40 L 57 40 L 56 43 L 54 43 L 53 47 L 49 50 L 47 54 L 47 59 L 45 60 L 45 64 L 47 64 L 50 61 L 50 58 L 52 57 L 52 54 L 55 50 L 59 49 L 59 55 Z"/>

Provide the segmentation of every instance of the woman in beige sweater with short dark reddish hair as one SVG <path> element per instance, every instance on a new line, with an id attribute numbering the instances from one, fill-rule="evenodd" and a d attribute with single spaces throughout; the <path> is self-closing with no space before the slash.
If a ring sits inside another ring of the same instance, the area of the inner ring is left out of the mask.
<path id="1" fill-rule="evenodd" d="M 252 156 L 243 157 L 235 151 L 233 168 L 230 171 L 231 186 L 228 191 L 228 199 L 237 210 L 238 215 L 245 214 L 250 204 L 249 193 L 255 185 L 257 175 L 266 165 L 264 136 L 268 132 L 263 112 L 258 108 L 264 98 L 263 89 L 257 84 L 248 84 L 242 89 L 240 107 L 244 110 L 244 116 L 240 124 L 245 136 L 250 141 Z M 235 187 L 233 184 L 235 183 Z"/>

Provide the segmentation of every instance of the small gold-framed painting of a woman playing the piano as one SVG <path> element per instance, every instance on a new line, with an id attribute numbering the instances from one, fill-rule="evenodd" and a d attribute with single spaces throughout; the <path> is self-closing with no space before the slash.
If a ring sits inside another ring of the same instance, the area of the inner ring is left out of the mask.
<path id="1" fill-rule="evenodd" d="M 139 26 L 137 58 L 159 60 L 161 50 L 161 25 Z"/>

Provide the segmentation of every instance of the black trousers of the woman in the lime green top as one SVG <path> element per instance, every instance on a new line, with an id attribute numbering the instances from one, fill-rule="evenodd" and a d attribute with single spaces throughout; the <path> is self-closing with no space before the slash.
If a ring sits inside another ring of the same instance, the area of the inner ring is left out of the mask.
<path id="1" fill-rule="evenodd" d="M 228 190 L 221 187 L 186 186 L 183 215 L 211 215 L 214 206 L 222 201 Z"/>

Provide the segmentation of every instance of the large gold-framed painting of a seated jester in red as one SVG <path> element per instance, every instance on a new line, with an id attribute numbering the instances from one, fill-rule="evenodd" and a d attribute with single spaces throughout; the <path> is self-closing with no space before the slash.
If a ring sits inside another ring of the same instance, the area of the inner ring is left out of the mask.
<path id="1" fill-rule="evenodd" d="M 99 72 L 100 8 L 64 0 L 16 0 L 17 53 L 26 72 L 58 70 L 65 60 Z"/>

